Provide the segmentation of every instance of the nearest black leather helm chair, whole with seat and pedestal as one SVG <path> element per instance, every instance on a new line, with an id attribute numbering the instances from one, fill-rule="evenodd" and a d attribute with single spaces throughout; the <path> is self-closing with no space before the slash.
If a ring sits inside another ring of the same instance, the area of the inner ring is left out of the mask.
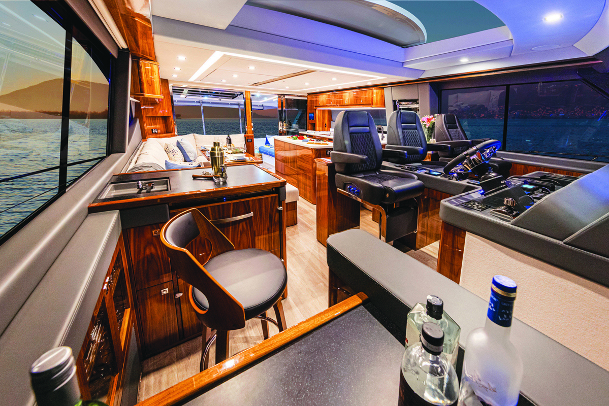
<path id="1" fill-rule="evenodd" d="M 406 156 L 404 151 L 382 149 L 367 112 L 345 110 L 336 117 L 330 158 L 338 191 L 381 212 L 379 238 L 387 242 L 417 230 L 415 197 L 423 192 L 423 182 L 412 173 L 381 169 L 383 159 Z"/>

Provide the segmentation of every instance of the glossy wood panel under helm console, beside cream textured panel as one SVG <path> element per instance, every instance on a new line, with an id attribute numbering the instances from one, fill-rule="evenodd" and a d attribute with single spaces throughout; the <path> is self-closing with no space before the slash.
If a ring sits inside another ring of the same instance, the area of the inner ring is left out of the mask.
<path id="1" fill-rule="evenodd" d="M 465 230 L 442 222 L 436 270 L 456 283 L 461 279 L 463 247 L 465 247 Z"/>

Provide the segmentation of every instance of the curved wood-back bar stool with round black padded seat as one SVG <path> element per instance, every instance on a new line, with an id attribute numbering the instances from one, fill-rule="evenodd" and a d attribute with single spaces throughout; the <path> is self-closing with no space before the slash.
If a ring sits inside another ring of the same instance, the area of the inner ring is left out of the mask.
<path id="1" fill-rule="evenodd" d="M 199 239 L 211 247 L 203 266 L 186 246 Z M 203 323 L 200 370 L 207 368 L 209 348 L 216 341 L 216 363 L 228 358 L 229 332 L 245 327 L 251 318 L 262 320 L 264 338 L 269 337 L 267 321 L 279 331 L 286 329 L 281 295 L 286 289 L 283 262 L 269 251 L 247 248 L 235 250 L 227 239 L 197 209 L 181 212 L 161 229 L 161 241 L 171 268 L 191 287 L 189 301 Z M 277 321 L 267 317 L 271 307 Z M 206 340 L 207 328 L 216 330 Z"/>

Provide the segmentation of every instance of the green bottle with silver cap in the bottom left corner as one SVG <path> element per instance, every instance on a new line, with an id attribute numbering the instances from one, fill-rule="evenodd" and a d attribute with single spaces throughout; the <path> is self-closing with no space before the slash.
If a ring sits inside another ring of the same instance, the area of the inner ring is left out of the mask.
<path id="1" fill-rule="evenodd" d="M 57 347 L 41 355 L 32 364 L 30 379 L 38 406 L 107 406 L 80 399 L 76 362 L 69 347 Z"/>

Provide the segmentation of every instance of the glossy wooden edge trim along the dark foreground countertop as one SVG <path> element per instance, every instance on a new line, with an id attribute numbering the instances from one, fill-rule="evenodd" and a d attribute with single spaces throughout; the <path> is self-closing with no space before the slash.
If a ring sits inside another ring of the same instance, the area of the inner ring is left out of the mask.
<path id="1" fill-rule="evenodd" d="M 227 378 L 231 374 L 238 372 L 262 357 L 269 355 L 271 352 L 281 349 L 292 341 L 303 337 L 303 335 L 314 331 L 329 321 L 360 306 L 367 301 L 367 299 L 368 296 L 364 293 L 357 293 L 357 295 L 351 296 L 339 304 L 336 304 L 336 306 L 330 307 L 279 334 L 275 334 L 273 337 L 262 341 L 262 343 L 239 352 L 239 354 L 233 355 L 224 362 L 214 365 L 209 369 L 205 369 L 205 371 L 185 379 L 171 388 L 167 388 L 161 393 L 149 397 L 143 402 L 139 402 L 137 406 L 170 406 L 177 404 L 177 402 L 192 398 L 212 385 L 215 385 L 220 380 Z"/>

